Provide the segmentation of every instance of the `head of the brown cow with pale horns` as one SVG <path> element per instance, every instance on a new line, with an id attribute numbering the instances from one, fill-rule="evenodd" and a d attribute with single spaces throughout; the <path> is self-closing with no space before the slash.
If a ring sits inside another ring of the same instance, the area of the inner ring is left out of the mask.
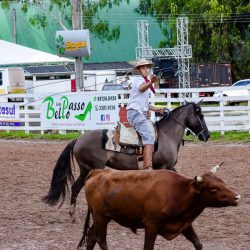
<path id="1" fill-rule="evenodd" d="M 223 180 L 215 175 L 221 164 L 216 165 L 202 176 L 196 176 L 192 181 L 192 186 L 195 188 L 199 200 L 206 207 L 236 206 L 241 198 L 239 194 L 234 193 L 225 185 Z"/>

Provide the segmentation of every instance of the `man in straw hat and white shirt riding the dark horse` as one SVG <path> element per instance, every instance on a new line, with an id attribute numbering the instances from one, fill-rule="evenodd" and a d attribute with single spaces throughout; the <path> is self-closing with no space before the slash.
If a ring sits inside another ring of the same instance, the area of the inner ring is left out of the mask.
<path id="1" fill-rule="evenodd" d="M 152 168 L 152 155 L 156 140 L 153 124 L 149 119 L 149 110 L 164 112 L 163 108 L 157 108 L 149 104 L 150 92 L 155 92 L 153 84 L 158 82 L 158 78 L 150 74 L 152 66 L 153 63 L 145 59 L 136 62 L 134 70 L 138 73 L 138 77 L 132 84 L 127 105 L 128 121 L 142 137 L 144 145 L 143 169 Z"/>

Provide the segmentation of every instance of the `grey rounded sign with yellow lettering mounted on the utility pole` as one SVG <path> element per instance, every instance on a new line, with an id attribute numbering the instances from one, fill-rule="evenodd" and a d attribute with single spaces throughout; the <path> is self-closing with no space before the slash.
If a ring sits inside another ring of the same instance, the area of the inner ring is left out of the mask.
<path id="1" fill-rule="evenodd" d="M 89 30 L 56 31 L 56 48 L 58 55 L 63 57 L 89 56 Z"/>

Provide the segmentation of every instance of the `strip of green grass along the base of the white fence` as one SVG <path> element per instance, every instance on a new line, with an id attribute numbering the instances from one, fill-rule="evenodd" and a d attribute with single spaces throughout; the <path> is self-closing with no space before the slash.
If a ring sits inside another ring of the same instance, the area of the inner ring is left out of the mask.
<path id="1" fill-rule="evenodd" d="M 72 132 L 67 134 L 26 134 L 24 131 L 4 132 L 0 131 L 0 138 L 6 139 L 32 139 L 32 140 L 73 140 L 81 136 L 81 133 Z M 196 136 L 185 136 L 185 141 L 199 142 Z M 220 132 L 212 132 L 209 139 L 210 142 L 216 143 L 250 143 L 250 134 L 248 132 L 225 132 L 221 135 Z"/>

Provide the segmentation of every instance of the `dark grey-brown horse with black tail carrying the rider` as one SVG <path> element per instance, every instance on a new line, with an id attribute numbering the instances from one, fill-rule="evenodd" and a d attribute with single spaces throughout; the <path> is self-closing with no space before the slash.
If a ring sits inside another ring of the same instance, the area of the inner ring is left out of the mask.
<path id="1" fill-rule="evenodd" d="M 153 169 L 174 170 L 177 155 L 183 141 L 185 129 L 191 130 L 199 140 L 206 142 L 209 131 L 204 120 L 200 103 L 186 103 L 177 107 L 155 123 L 158 140 L 153 153 Z M 84 186 L 85 178 L 90 170 L 103 169 L 105 166 L 117 170 L 138 170 L 136 155 L 121 152 L 107 151 L 104 147 L 104 138 L 107 130 L 99 129 L 88 131 L 78 139 L 67 144 L 54 167 L 49 192 L 42 198 L 50 206 L 63 204 L 67 192 L 68 182 L 71 183 L 71 199 L 69 214 L 73 222 L 77 221 L 77 196 Z M 72 173 L 71 161 L 73 156 L 80 168 L 76 181 Z"/>

